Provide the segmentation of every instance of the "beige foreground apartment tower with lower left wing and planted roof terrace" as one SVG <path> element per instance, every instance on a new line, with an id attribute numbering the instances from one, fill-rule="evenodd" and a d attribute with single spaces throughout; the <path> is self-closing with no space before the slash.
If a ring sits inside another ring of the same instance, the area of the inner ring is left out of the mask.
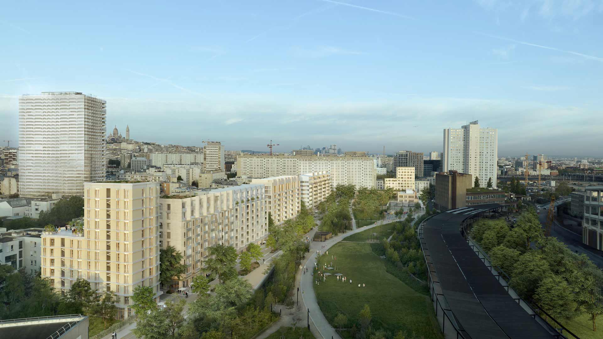
<path id="1" fill-rule="evenodd" d="M 84 183 L 84 232 L 43 232 L 42 277 L 67 293 L 78 278 L 116 294 L 118 318 L 132 314 L 133 290 L 159 301 L 159 183 Z"/>

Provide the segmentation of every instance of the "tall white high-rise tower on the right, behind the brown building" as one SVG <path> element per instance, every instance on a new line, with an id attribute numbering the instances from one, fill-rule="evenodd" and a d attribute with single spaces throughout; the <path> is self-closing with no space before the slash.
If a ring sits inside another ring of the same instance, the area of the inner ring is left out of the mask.
<path id="1" fill-rule="evenodd" d="M 496 188 L 497 160 L 496 128 L 480 128 L 476 120 L 461 128 L 444 129 L 444 172 L 471 174 L 479 178 L 481 187 L 491 178 Z"/>

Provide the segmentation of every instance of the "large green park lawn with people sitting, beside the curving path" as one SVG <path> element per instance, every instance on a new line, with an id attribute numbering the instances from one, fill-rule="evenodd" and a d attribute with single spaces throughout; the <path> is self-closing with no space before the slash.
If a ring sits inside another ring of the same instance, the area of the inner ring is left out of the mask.
<path id="1" fill-rule="evenodd" d="M 336 261 L 331 255 L 337 256 Z M 331 261 L 336 271 L 329 273 L 343 273 L 348 281 L 352 279 L 352 284 L 338 281 L 335 276 L 327 277 L 320 285 L 314 284 L 318 306 L 329 323 L 341 312 L 349 320 L 346 327 L 351 328 L 358 323 L 358 312 L 368 304 L 373 329 L 383 328 L 392 335 L 402 330 L 411 338 L 443 338 L 429 296 L 417 293 L 387 273 L 384 259 L 371 251 L 370 244 L 339 242 L 329 249 L 328 255 L 321 256 L 319 267 Z M 344 331 L 342 337 L 352 335 Z"/>

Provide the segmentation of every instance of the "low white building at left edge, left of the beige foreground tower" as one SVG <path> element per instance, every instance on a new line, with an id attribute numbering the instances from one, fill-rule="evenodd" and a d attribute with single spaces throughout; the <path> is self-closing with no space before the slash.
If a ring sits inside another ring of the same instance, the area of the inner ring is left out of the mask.
<path id="1" fill-rule="evenodd" d="M 30 228 L 6 230 L 0 228 L 0 264 L 11 265 L 16 270 L 23 268 L 29 274 L 40 270 L 44 229 Z"/>

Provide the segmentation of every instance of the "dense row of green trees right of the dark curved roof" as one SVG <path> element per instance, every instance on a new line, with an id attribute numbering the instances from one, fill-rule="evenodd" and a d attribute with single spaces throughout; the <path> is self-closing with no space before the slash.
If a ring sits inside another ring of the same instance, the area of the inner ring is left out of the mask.
<path id="1" fill-rule="evenodd" d="M 560 321 L 588 314 L 596 331 L 596 318 L 603 314 L 603 271 L 586 255 L 546 237 L 533 208 L 513 228 L 502 219 L 478 220 L 471 235 L 523 299 L 534 300 Z"/>

